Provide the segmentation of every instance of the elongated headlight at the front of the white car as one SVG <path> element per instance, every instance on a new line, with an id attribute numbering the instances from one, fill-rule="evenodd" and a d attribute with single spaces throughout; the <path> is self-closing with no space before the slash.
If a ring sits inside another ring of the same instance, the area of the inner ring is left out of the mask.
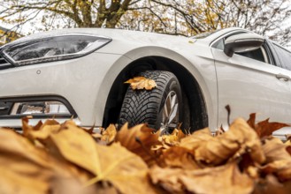
<path id="1" fill-rule="evenodd" d="M 110 42 L 110 38 L 66 34 L 4 46 L 1 53 L 10 63 L 20 66 L 33 63 L 53 62 L 88 55 Z"/>

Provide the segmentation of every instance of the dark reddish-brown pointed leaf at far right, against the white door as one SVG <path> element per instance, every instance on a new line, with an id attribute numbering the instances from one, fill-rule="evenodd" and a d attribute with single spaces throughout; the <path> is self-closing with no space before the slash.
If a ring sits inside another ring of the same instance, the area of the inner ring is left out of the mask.
<path id="1" fill-rule="evenodd" d="M 249 115 L 249 120 L 247 121 L 249 123 L 249 126 L 253 128 L 255 131 L 257 131 L 257 135 L 259 138 L 264 138 L 268 136 L 272 136 L 272 132 L 278 131 L 283 127 L 290 126 L 286 123 L 277 123 L 277 122 L 269 122 L 269 118 L 259 122 L 256 122 L 256 114 L 252 113 Z"/>

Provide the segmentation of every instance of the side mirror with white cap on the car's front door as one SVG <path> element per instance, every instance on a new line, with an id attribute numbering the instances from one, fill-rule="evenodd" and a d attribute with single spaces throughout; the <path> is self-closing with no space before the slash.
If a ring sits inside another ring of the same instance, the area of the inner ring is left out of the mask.
<path id="1" fill-rule="evenodd" d="M 256 50 L 264 43 L 264 37 L 258 34 L 236 34 L 229 36 L 225 41 L 224 52 L 226 56 L 234 56 L 234 53 L 242 53 Z"/>

